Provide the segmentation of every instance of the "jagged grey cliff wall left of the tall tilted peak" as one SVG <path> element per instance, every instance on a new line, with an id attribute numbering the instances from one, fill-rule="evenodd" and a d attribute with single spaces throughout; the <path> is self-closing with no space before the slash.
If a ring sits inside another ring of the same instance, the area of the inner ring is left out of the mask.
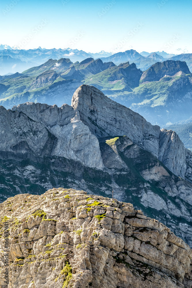
<path id="1" fill-rule="evenodd" d="M 33 114 L 32 119 L 29 119 L 29 114 Z M 98 139 L 74 116 L 69 105 L 58 108 L 56 105 L 26 103 L 13 107 L 12 111 L 2 107 L 0 149 L 16 153 L 28 151 L 36 156 L 65 157 L 101 169 Z M 55 143 L 53 137 L 57 139 Z"/>

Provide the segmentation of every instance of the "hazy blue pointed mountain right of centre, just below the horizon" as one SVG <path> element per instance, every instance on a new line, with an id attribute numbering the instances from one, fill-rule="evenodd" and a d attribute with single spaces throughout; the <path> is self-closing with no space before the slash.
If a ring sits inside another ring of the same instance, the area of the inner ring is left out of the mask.
<path id="1" fill-rule="evenodd" d="M 118 52 L 116 54 L 113 54 L 109 57 L 101 58 L 99 57 L 102 61 L 104 62 L 110 62 L 112 61 L 115 64 L 120 64 L 123 62 L 128 62 L 132 60 L 136 60 L 140 57 L 141 55 L 136 51 L 136 50 L 127 50 L 125 52 Z"/>

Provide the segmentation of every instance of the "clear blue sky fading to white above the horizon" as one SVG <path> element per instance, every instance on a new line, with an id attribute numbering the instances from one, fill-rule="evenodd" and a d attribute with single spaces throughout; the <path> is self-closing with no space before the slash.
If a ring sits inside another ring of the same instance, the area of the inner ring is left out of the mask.
<path id="1" fill-rule="evenodd" d="M 1 0 L 0 43 L 192 53 L 191 11 L 191 0 Z"/>

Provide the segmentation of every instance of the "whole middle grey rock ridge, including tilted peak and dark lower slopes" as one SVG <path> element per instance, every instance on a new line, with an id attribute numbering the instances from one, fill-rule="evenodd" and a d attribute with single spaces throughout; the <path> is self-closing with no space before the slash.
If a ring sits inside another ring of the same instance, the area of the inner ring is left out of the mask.
<path id="1" fill-rule="evenodd" d="M 52 187 L 132 202 L 192 245 L 192 154 L 178 135 L 147 122 L 93 86 L 71 106 L 0 106 L 1 200 Z"/>

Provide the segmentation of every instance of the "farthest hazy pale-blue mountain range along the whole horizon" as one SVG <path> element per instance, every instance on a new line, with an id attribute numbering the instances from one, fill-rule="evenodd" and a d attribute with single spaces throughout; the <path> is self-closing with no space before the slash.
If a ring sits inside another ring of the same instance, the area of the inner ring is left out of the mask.
<path id="1" fill-rule="evenodd" d="M 147 70 L 151 65 L 155 64 L 157 61 L 164 61 L 164 60 L 180 60 L 187 62 L 187 65 L 189 66 L 189 69 L 192 69 L 192 60 L 191 60 L 192 54 L 181 54 L 181 55 L 174 55 L 174 54 L 168 54 L 164 51 L 162 52 L 141 52 L 138 53 L 136 50 L 127 50 L 125 52 L 118 52 L 115 54 L 112 54 L 111 52 L 105 52 L 100 51 L 99 53 L 87 53 L 83 50 L 78 49 L 71 49 L 71 48 L 65 48 L 65 49 L 45 49 L 45 48 L 37 48 L 37 49 L 18 49 L 18 47 L 12 47 L 7 45 L 0 45 L 0 56 L 10 56 L 13 59 L 20 59 L 23 62 L 32 62 L 35 66 L 36 64 L 42 64 L 43 62 L 46 62 L 50 58 L 52 59 L 60 59 L 60 58 L 70 58 L 72 62 L 85 60 L 86 58 L 100 58 L 103 62 L 114 62 L 116 65 L 119 65 L 123 62 L 134 62 L 138 69 L 141 69 L 142 71 Z M 172 57 L 175 57 L 175 59 L 172 59 Z M 13 60 L 14 61 L 14 60 Z M 17 63 L 14 63 L 15 65 Z M 24 63 L 23 65 L 26 65 Z M 31 67 L 32 67 L 31 66 Z M 9 68 L 9 69 L 8 69 Z M 18 67 L 17 72 L 21 73 L 26 68 L 23 67 L 20 69 Z M 191 70 L 192 71 L 192 70 Z M 4 66 L 4 69 L 2 67 L 0 68 L 0 74 L 6 74 L 6 73 L 14 73 L 15 70 L 12 71 L 11 67 Z"/>

